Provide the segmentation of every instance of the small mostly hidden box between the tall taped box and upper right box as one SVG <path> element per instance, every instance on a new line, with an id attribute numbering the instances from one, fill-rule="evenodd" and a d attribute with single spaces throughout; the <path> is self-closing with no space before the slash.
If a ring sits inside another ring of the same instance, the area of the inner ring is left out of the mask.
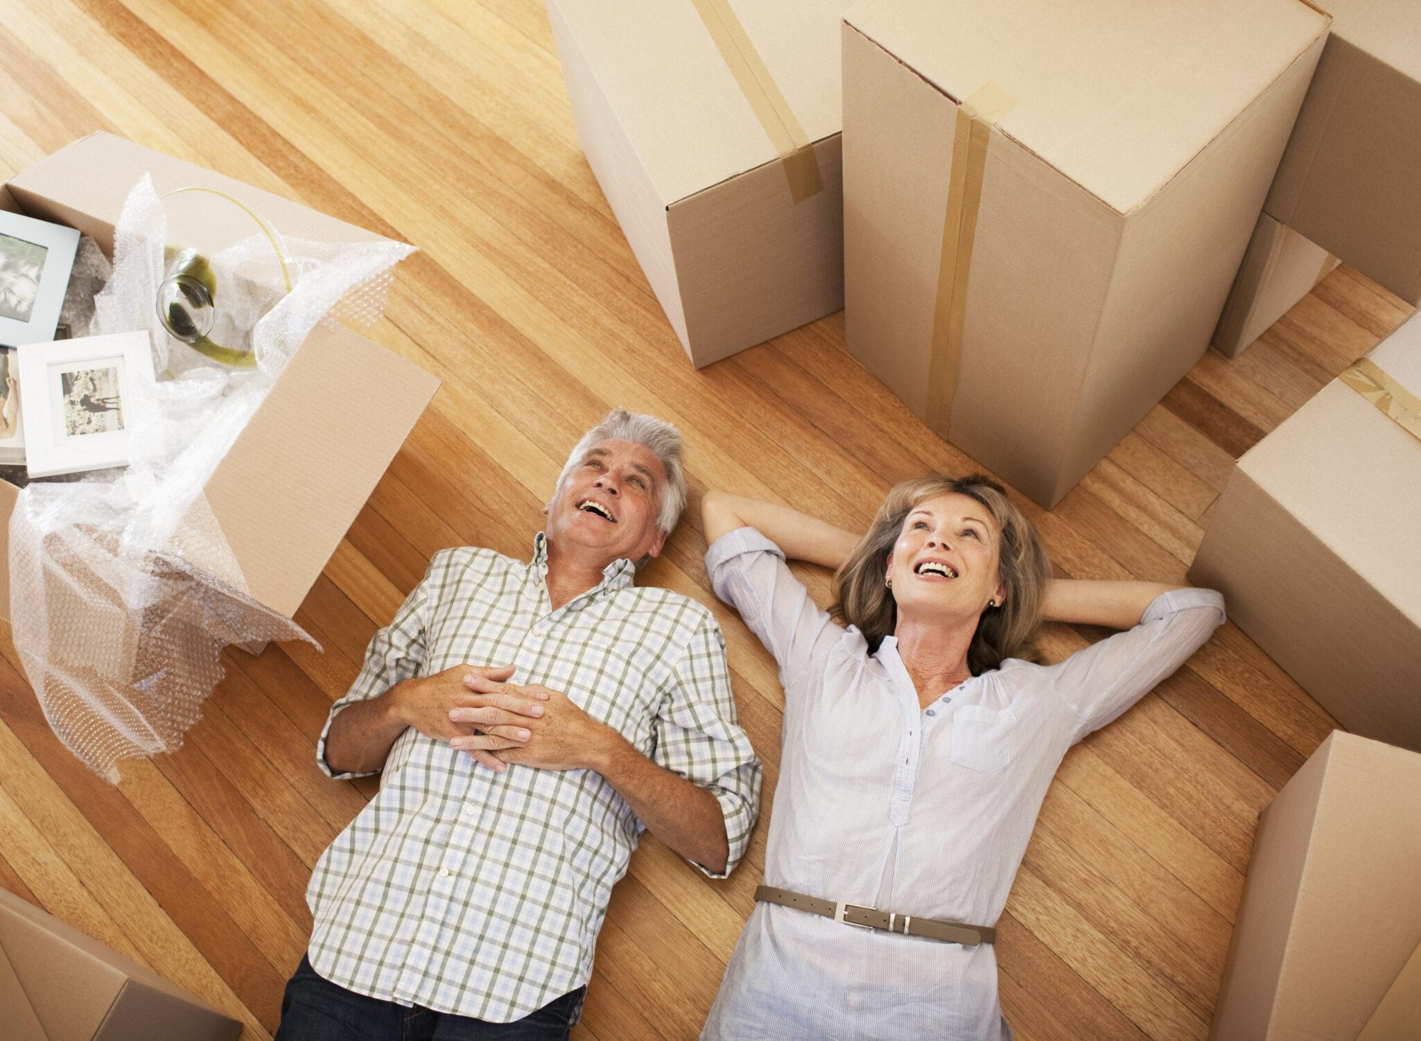
<path id="1" fill-rule="evenodd" d="M 1226 358 L 1238 358 L 1339 263 L 1317 243 L 1260 213 L 1214 329 L 1214 348 Z"/>

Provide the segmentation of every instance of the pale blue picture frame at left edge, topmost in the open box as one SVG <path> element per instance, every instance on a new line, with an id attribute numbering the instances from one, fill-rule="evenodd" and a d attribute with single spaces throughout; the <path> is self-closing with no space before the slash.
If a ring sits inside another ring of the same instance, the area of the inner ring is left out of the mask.
<path id="1" fill-rule="evenodd" d="M 72 227 L 0 210 L 0 345 L 54 339 L 78 247 Z"/>

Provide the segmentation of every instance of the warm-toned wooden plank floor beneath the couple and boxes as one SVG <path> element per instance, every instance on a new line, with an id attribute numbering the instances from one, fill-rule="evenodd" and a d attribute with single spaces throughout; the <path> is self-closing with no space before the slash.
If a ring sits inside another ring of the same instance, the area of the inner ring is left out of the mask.
<path id="1" fill-rule="evenodd" d="M 536 0 L 0 0 L 0 175 L 95 129 L 418 244 L 374 337 L 445 381 L 297 615 L 325 653 L 229 653 L 178 754 L 109 787 L 0 641 L 0 885 L 242 1017 L 244 1038 L 276 1028 L 311 865 L 375 790 L 317 771 L 330 702 L 432 552 L 527 554 L 608 406 L 685 430 L 692 507 L 715 484 L 865 524 L 892 481 L 971 466 L 844 352 L 841 314 L 689 366 L 578 151 Z M 1060 569 L 1182 579 L 1232 460 L 1407 311 L 1343 267 L 1238 361 L 1205 356 L 1054 511 L 1032 508 Z M 720 618 L 764 808 L 728 882 L 642 844 L 580 1041 L 695 1037 L 760 881 L 782 694 L 702 551 L 691 508 L 641 581 Z M 1060 656 L 1097 635 L 1044 639 Z M 1017 1037 L 1204 1038 L 1256 815 L 1331 726 L 1226 625 L 1073 750 L 999 926 Z"/>

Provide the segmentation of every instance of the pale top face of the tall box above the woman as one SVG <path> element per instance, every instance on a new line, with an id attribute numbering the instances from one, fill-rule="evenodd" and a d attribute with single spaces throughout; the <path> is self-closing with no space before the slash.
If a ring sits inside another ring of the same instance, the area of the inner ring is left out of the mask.
<path id="1" fill-rule="evenodd" d="M 863 0 L 845 14 L 1120 213 L 1169 182 L 1327 31 L 1300 0 Z"/>

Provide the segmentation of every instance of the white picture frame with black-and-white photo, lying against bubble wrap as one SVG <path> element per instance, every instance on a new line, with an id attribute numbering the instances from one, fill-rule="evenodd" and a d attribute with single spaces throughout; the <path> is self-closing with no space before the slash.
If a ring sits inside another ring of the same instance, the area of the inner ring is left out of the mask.
<path id="1" fill-rule="evenodd" d="M 128 432 L 152 408 L 148 332 L 30 344 L 17 354 L 30 476 L 128 466 Z"/>

